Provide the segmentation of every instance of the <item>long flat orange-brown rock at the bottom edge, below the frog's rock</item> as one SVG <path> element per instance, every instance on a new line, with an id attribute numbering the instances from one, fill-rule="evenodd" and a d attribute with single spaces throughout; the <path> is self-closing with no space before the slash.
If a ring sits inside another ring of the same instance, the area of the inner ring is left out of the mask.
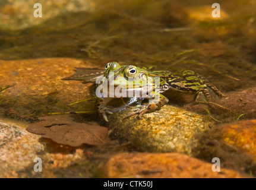
<path id="1" fill-rule="evenodd" d="M 179 153 L 123 153 L 106 166 L 108 178 L 241 178 L 227 169 L 213 172 L 213 164 Z"/>

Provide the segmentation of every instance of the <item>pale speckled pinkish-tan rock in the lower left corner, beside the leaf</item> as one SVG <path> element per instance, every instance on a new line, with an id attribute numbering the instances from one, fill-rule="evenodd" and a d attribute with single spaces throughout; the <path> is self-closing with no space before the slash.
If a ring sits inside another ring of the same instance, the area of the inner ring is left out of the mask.
<path id="1" fill-rule="evenodd" d="M 0 121 L 0 178 L 18 178 L 18 171 L 30 165 L 33 172 L 34 159 L 44 150 L 39 138 L 24 128 Z"/>

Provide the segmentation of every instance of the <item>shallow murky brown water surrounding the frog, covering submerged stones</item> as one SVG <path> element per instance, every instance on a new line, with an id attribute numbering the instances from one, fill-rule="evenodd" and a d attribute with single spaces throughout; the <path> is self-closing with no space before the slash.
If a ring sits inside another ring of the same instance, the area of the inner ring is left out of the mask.
<path id="1" fill-rule="evenodd" d="M 33 16 L 36 2 L 42 3 L 42 18 Z M 200 0 L 1 1 L 0 87 L 11 85 L 0 92 L 1 121 L 17 119 L 25 124 L 15 125 L 26 128 L 27 122 L 48 113 L 95 111 L 93 100 L 68 106 L 89 99 L 90 85 L 64 83 L 61 78 L 74 74 L 75 67 L 103 68 L 110 61 L 156 66 L 175 74 L 192 69 L 224 94 L 255 88 L 256 2 L 219 1 L 220 18 L 212 17 L 212 4 Z M 191 101 L 190 95 L 169 94 L 170 105 L 184 108 Z M 247 118 L 238 112 L 227 119 L 226 113 L 211 111 L 214 119 L 224 123 L 235 121 L 239 115 L 240 120 L 256 118 L 255 112 Z M 203 114 L 207 115 L 205 110 Z M 96 113 L 83 116 L 99 121 Z M 92 167 L 97 173 L 100 156 L 129 150 L 115 143 L 112 153 L 106 153 L 105 148 L 89 148 L 99 158 L 86 165 L 84 177 L 95 176 L 88 170 Z M 65 172 L 62 175 L 68 176 Z M 24 176 L 34 177 L 26 172 Z"/>

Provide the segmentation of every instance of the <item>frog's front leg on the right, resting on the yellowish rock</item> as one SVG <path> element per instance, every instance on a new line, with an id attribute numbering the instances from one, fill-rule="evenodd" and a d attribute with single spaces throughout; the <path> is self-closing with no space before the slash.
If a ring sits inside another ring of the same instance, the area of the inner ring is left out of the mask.
<path id="1" fill-rule="evenodd" d="M 161 107 L 166 105 L 166 103 L 169 100 L 162 94 L 155 93 L 153 99 L 150 98 L 150 96 L 148 96 L 148 101 L 149 102 L 147 105 L 140 105 L 140 108 L 138 110 L 125 116 L 125 118 L 129 118 L 132 115 L 138 114 L 138 118 L 142 119 L 142 116 L 144 115 L 144 113 L 150 113 L 150 112 L 154 112 L 157 109 L 160 109 Z"/>

